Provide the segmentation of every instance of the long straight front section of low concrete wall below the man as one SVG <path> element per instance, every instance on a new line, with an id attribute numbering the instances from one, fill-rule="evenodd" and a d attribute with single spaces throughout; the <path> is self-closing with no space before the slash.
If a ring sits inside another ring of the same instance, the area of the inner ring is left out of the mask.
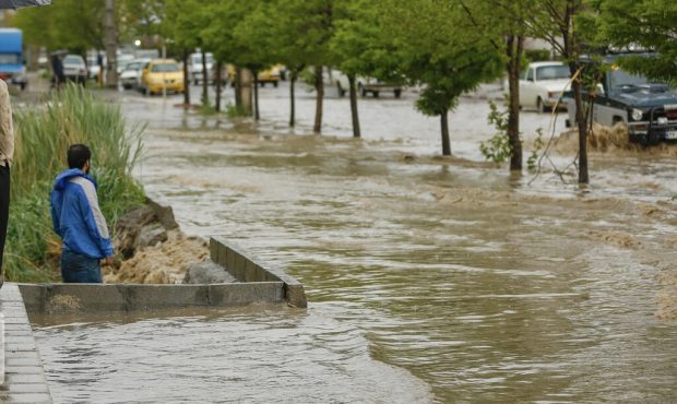
<path id="1" fill-rule="evenodd" d="M 84 313 L 284 302 L 277 282 L 213 285 L 19 284 L 32 313 Z"/>

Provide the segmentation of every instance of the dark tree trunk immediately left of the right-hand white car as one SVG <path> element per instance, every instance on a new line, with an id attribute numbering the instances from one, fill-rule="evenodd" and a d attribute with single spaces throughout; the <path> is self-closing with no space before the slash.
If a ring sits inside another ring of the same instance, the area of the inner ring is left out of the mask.
<path id="1" fill-rule="evenodd" d="M 510 35 L 508 50 L 508 86 L 510 102 L 508 109 L 508 139 L 510 141 L 510 170 L 522 170 L 522 142 L 520 141 L 520 70 L 524 37 Z"/>

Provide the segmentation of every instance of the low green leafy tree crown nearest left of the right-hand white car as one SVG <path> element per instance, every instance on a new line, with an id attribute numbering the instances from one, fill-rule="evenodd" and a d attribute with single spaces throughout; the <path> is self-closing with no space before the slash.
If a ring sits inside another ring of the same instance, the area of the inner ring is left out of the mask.
<path id="1" fill-rule="evenodd" d="M 426 115 L 446 114 L 461 94 L 502 71 L 492 43 L 500 36 L 477 29 L 461 3 L 389 0 L 379 14 L 397 49 L 399 71 L 426 87 L 417 103 Z"/>

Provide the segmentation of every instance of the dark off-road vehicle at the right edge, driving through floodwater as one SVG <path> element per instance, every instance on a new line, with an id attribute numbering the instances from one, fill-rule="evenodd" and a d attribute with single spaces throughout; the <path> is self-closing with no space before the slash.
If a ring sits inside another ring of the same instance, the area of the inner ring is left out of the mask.
<path id="1" fill-rule="evenodd" d="M 644 145 L 677 142 L 677 91 L 667 83 L 652 82 L 616 64 L 621 55 L 606 57 L 609 66 L 594 94 L 592 119 L 607 127 L 622 122 L 629 141 Z M 651 57 L 649 54 L 643 55 Z M 590 94 L 583 94 L 585 103 Z M 569 97 L 567 126 L 575 122 L 575 103 Z"/>

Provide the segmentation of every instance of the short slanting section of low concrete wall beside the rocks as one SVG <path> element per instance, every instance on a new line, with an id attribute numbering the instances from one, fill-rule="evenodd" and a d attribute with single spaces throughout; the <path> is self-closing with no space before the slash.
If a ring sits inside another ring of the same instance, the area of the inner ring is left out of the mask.
<path id="1" fill-rule="evenodd" d="M 282 282 L 284 296 L 289 306 L 298 308 L 308 306 L 306 292 L 300 282 L 277 268 L 248 258 L 240 247 L 225 238 L 210 239 L 210 256 L 212 261 L 224 266 L 239 282 Z"/>

